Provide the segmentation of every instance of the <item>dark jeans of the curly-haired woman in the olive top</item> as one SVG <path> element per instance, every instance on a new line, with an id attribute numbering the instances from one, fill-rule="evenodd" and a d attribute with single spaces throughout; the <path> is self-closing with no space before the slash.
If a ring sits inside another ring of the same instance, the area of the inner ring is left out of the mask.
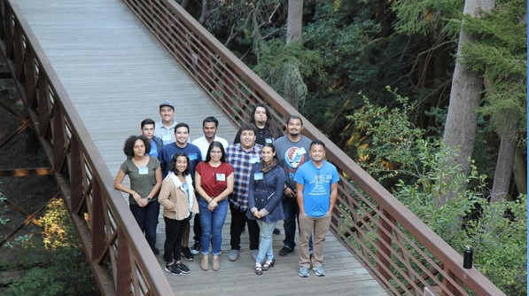
<path id="1" fill-rule="evenodd" d="M 145 233 L 147 243 L 154 250 L 156 245 L 156 226 L 158 226 L 159 203 L 158 200 L 152 200 L 147 206 L 141 207 L 135 204 L 128 205 L 130 212 L 134 215 L 137 224 Z"/>

